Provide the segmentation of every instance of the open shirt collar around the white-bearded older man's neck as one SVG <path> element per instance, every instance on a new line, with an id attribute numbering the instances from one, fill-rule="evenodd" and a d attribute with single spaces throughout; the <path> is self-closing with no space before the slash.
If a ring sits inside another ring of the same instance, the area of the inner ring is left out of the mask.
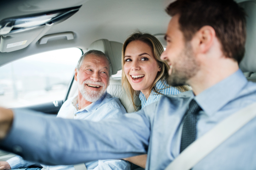
<path id="1" fill-rule="evenodd" d="M 80 110 L 78 110 L 78 95 L 76 97 L 74 97 L 74 99 L 71 101 L 71 104 L 76 108 L 76 111 L 93 111 L 93 110 L 96 110 L 97 108 L 99 108 L 99 106 L 101 105 L 102 103 L 102 100 L 105 98 L 105 96 L 107 95 L 107 92 L 105 92 L 105 94 L 99 99 L 97 100 L 96 102 L 92 102 L 90 105 L 86 106 L 85 108 L 82 108 Z"/>

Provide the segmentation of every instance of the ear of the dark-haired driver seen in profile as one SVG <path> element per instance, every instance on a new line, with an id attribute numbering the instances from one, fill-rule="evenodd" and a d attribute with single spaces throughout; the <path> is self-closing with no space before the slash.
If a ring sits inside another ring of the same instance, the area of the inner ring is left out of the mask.
<path id="1" fill-rule="evenodd" d="M 199 53 L 206 53 L 212 47 L 215 37 L 216 33 L 214 28 L 211 26 L 203 26 L 195 34 L 194 38 L 197 39 L 195 42 L 193 42 L 196 45 L 195 50 Z"/>

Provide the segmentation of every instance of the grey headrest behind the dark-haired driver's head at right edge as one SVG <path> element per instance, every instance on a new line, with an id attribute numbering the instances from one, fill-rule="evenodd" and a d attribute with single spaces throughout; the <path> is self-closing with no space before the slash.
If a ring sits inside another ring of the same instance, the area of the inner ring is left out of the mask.
<path id="1" fill-rule="evenodd" d="M 239 5 L 241 5 L 247 13 L 245 55 L 239 67 L 243 72 L 256 72 L 256 2 L 245 1 Z"/>

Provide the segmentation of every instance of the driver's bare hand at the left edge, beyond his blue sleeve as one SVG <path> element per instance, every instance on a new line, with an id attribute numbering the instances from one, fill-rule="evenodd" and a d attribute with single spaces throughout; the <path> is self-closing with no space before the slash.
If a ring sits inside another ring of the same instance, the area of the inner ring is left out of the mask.
<path id="1" fill-rule="evenodd" d="M 13 113 L 12 110 L 0 108 L 0 139 L 6 137 L 12 127 Z"/>

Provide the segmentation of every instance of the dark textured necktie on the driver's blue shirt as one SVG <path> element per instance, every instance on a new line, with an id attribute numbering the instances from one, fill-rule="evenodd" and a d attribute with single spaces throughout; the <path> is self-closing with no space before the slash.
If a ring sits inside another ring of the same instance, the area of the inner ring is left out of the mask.
<path id="1" fill-rule="evenodd" d="M 202 109 L 197 102 L 192 99 L 189 103 L 189 109 L 185 113 L 181 141 L 180 141 L 180 153 L 186 149 L 196 138 L 196 123 L 198 120 L 198 112 Z"/>

